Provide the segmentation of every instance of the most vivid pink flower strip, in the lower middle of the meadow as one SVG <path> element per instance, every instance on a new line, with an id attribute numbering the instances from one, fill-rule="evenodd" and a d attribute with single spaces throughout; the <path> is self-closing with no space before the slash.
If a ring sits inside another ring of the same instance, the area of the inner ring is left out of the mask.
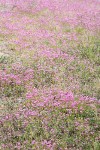
<path id="1" fill-rule="evenodd" d="M 33 92 L 28 92 L 26 94 L 26 99 L 30 99 L 32 102 L 32 107 L 58 107 L 58 108 L 71 108 L 82 110 L 85 104 L 93 103 L 95 98 L 85 97 L 85 96 L 74 96 L 73 92 L 69 91 L 67 93 L 61 91 L 42 91 L 33 90 Z"/>

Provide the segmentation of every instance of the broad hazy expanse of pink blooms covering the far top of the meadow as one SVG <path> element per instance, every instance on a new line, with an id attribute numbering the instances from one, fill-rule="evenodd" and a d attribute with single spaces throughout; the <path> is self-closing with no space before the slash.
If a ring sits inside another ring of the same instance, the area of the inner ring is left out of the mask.
<path id="1" fill-rule="evenodd" d="M 99 29 L 100 26 L 100 2 L 97 0 L 1 0 L 0 3 L 3 3 L 3 5 L 14 5 L 19 9 L 17 12 L 2 12 L 0 19 L 3 22 L 1 24 L 3 29 L 1 32 L 15 36 L 9 42 L 19 45 L 21 49 L 34 47 L 34 42 L 40 41 L 41 43 L 43 40 L 48 40 L 52 44 L 55 43 L 57 45 L 57 39 L 62 37 L 70 41 L 77 41 L 78 37 L 75 33 L 64 34 L 62 32 L 63 24 L 69 24 L 70 28 L 79 25 L 91 31 Z M 49 16 L 41 15 L 38 19 L 32 19 L 32 17 L 26 17 L 19 13 L 20 11 L 30 11 L 31 14 L 36 14 L 37 11 L 42 12 L 45 9 L 48 9 L 54 15 L 50 16 L 48 13 Z M 17 20 L 19 21 L 17 22 Z M 59 30 L 45 29 L 47 25 L 51 26 L 51 23 L 54 23 L 55 28 L 59 27 Z M 30 25 L 38 27 L 33 30 L 29 27 Z M 51 54 L 48 54 L 48 49 L 46 53 L 51 56 Z"/>

